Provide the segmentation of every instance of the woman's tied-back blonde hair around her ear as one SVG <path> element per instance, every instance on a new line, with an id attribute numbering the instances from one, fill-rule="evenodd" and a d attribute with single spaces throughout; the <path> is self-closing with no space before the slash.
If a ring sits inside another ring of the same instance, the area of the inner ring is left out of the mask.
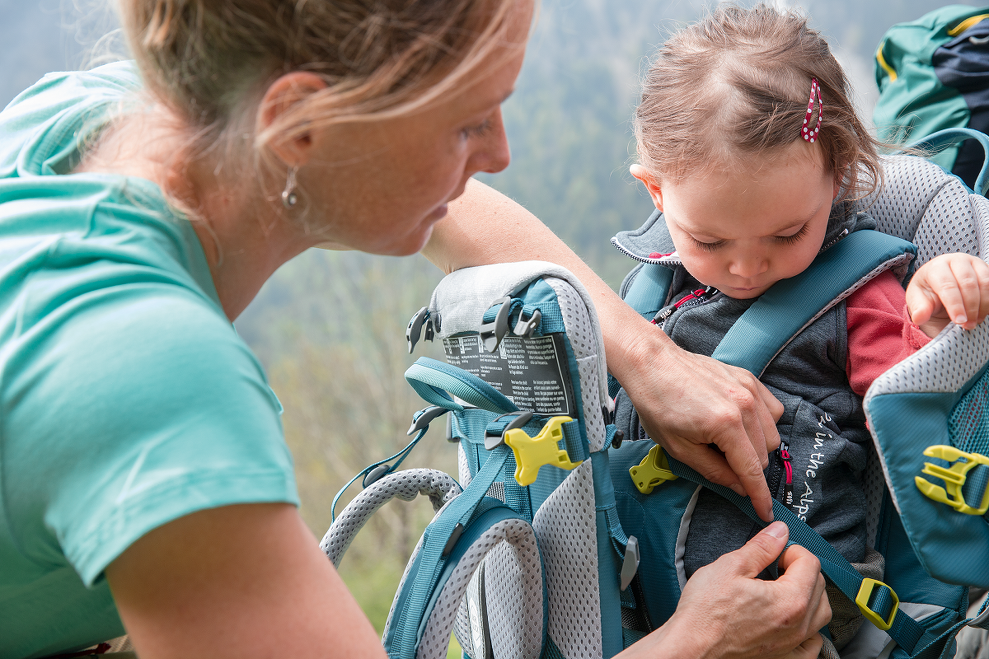
<path id="1" fill-rule="evenodd" d="M 279 76 L 315 73 L 252 137 L 257 164 L 284 173 L 270 149 L 332 124 L 403 116 L 461 84 L 508 44 L 519 0 L 118 0 L 145 86 L 193 131 L 190 153 L 242 144 L 240 116 Z M 517 41 L 517 39 L 516 39 Z M 510 44 L 509 44 L 510 45 Z M 523 44 L 515 44 L 521 47 Z M 239 141 L 238 141 L 239 140 Z"/>

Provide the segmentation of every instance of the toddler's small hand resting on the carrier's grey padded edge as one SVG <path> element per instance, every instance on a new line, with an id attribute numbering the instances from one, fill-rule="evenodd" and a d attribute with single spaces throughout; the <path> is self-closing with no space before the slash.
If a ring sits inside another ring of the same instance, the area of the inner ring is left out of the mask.
<path id="1" fill-rule="evenodd" d="M 989 264 L 961 253 L 931 259 L 910 280 L 907 313 L 932 338 L 948 323 L 974 329 L 989 314 Z"/>

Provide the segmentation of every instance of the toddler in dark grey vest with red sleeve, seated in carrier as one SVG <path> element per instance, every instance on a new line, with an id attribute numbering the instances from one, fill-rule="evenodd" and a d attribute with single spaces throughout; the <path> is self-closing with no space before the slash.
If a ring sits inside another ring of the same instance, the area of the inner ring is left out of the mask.
<path id="1" fill-rule="evenodd" d="M 674 268 L 673 304 L 655 322 L 691 352 L 710 355 L 775 282 L 875 226 L 848 203 L 882 180 L 875 142 L 829 47 L 793 13 L 722 5 L 674 35 L 646 79 L 636 136 L 641 164 L 631 171 L 665 223 L 616 241 Z M 949 319 L 971 329 L 987 311 L 989 266 L 944 255 L 921 267 L 906 293 L 892 271 L 872 279 L 765 370 L 762 381 L 784 407 L 780 447 L 766 469 L 770 493 L 851 562 L 866 560 L 861 396 Z M 686 576 L 757 531 L 732 504 L 701 491 Z M 832 606 L 841 648 L 860 617 L 854 605 L 847 617 L 835 598 Z"/>

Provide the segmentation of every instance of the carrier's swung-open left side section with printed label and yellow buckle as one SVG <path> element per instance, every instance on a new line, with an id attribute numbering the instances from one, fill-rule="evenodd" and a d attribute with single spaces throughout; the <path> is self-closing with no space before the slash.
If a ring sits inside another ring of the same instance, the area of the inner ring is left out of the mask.
<path id="1" fill-rule="evenodd" d="M 372 465 L 362 472 L 375 475 L 369 487 L 333 522 L 324 549 L 337 562 L 374 509 L 424 492 L 442 508 L 389 614 L 390 656 L 445 657 L 452 628 L 476 659 L 617 654 L 620 579 L 635 569 L 635 544 L 614 509 L 611 402 L 584 287 L 543 262 L 468 268 L 446 277 L 409 323 L 410 350 L 423 331 L 450 363 L 420 358 L 406 372 L 431 405 L 410 433 L 447 414 L 463 490 L 431 470 L 370 484 L 391 469 Z"/>

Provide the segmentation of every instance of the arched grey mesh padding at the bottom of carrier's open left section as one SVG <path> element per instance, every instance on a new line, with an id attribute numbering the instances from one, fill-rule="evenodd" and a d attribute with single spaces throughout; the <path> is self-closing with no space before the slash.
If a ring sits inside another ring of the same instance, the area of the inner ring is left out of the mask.
<path id="1" fill-rule="evenodd" d="M 539 560 L 539 547 L 530 526 L 523 519 L 503 519 L 482 534 L 467 549 L 457 562 L 453 573 L 437 597 L 436 604 L 426 620 L 422 641 L 416 654 L 417 659 L 444 659 L 450 643 L 461 602 L 467 593 L 468 585 L 481 561 L 499 543 L 515 555 L 520 566 L 520 590 L 513 592 L 512 611 L 509 623 L 512 628 L 502 627 L 498 633 L 505 633 L 517 640 L 516 653 L 519 659 L 538 659 L 542 650 L 543 638 L 543 576 Z M 491 567 L 486 569 L 486 581 L 491 579 Z M 489 611 L 497 607 L 492 603 L 489 590 Z M 494 631 L 492 633 L 494 639 Z M 497 655 L 500 659 L 501 655 Z"/>

